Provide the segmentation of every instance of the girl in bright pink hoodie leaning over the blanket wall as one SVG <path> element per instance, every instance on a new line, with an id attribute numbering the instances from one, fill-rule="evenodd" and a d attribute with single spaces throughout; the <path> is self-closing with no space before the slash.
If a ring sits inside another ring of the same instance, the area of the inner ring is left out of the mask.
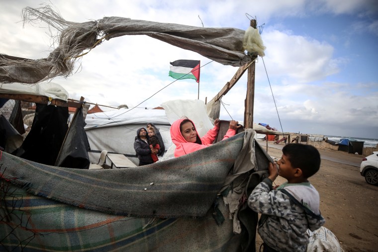
<path id="1" fill-rule="evenodd" d="M 238 121 L 230 121 L 230 126 L 223 140 L 236 134 Z M 214 128 L 210 129 L 203 137 L 198 136 L 194 123 L 184 117 L 176 120 L 171 126 L 172 142 L 176 145 L 175 158 L 198 151 L 210 146 L 219 132 L 219 119 L 215 119 Z"/>

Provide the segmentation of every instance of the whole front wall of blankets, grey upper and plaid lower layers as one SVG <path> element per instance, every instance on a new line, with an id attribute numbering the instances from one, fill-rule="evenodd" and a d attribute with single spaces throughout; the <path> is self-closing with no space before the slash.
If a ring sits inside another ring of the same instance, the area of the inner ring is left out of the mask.
<path id="1" fill-rule="evenodd" d="M 233 221 L 218 226 L 214 217 L 228 216 L 217 193 L 243 153 L 245 135 L 124 169 L 59 168 L 2 153 L 0 245 L 6 251 L 237 251 L 242 236 L 233 234 Z"/>

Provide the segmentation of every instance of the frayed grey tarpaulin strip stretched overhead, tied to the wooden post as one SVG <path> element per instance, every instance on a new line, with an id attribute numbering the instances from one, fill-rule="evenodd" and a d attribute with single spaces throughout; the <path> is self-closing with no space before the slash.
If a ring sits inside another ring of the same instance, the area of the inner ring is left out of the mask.
<path id="1" fill-rule="evenodd" d="M 50 6 L 23 9 L 24 22 L 43 20 L 59 31 L 59 45 L 46 58 L 31 60 L 0 55 L 0 82 L 37 83 L 56 76 L 69 76 L 83 51 L 103 40 L 123 35 L 147 35 L 171 45 L 196 52 L 223 65 L 243 66 L 265 47 L 257 29 L 207 28 L 189 25 L 104 17 L 83 23 L 66 21 Z M 245 50 L 248 53 L 245 53 Z"/>

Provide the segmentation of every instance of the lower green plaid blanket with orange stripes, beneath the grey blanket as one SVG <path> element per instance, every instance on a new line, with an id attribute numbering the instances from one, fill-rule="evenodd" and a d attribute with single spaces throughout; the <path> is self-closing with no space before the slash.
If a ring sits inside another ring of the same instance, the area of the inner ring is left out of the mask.
<path id="1" fill-rule="evenodd" d="M 7 188 L 1 209 L 0 251 L 236 251 L 232 220 L 218 226 L 212 211 L 203 218 L 136 218 L 110 215 Z M 219 200 L 221 201 L 221 200 Z M 224 216 L 224 204 L 219 202 Z M 14 207 L 14 210 L 12 208 Z M 5 238 L 5 239 L 4 239 Z M 197 248 L 195 250 L 194 248 Z"/>

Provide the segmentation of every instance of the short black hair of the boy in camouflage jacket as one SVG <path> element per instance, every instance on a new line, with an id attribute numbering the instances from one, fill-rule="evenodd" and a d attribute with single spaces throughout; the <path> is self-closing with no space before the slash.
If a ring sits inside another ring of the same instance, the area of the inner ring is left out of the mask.
<path id="1" fill-rule="evenodd" d="M 287 144 L 282 149 L 293 168 L 300 168 L 303 177 L 308 178 L 320 168 L 319 151 L 312 145 Z"/>

